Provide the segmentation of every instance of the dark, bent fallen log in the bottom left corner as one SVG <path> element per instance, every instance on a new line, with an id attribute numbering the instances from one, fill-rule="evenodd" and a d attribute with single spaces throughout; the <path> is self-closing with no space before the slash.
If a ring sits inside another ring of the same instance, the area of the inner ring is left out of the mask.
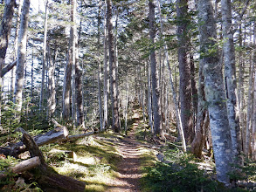
<path id="1" fill-rule="evenodd" d="M 19 128 L 19 131 L 23 133 L 22 141 L 29 150 L 31 157 L 38 156 L 41 161 L 41 164 L 36 168 L 38 169 L 37 175 L 33 177 L 41 189 L 66 192 L 85 191 L 85 182 L 80 182 L 71 177 L 52 172 L 45 163 L 45 158 L 31 135 L 27 134 L 22 128 Z"/>

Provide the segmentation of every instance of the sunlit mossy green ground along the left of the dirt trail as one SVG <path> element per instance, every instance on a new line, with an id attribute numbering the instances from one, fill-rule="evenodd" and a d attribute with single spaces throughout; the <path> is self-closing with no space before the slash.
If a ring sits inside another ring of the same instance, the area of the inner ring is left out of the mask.
<path id="1" fill-rule="evenodd" d="M 117 163 L 121 161 L 121 154 L 113 142 L 120 137 L 107 132 L 55 146 L 60 150 L 73 151 L 77 154 L 75 161 L 68 158 L 59 161 L 58 158 L 52 158 L 49 152 L 45 151 L 45 154 L 49 157 L 48 163 L 59 174 L 86 182 L 86 191 L 105 191 L 114 179 Z"/>

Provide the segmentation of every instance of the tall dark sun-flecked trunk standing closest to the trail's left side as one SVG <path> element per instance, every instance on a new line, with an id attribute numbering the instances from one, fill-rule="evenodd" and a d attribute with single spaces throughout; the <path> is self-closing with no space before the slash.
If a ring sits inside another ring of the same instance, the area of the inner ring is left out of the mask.
<path id="1" fill-rule="evenodd" d="M 109 54 L 109 71 L 111 81 L 111 93 L 113 104 L 113 123 L 112 128 L 114 132 L 120 132 L 119 123 L 119 107 L 118 107 L 118 95 L 117 95 L 117 82 L 116 82 L 116 63 L 114 58 L 114 36 L 113 36 L 113 24 L 112 18 L 112 4 L 111 0 L 107 0 L 107 30 L 108 30 L 108 54 Z"/>

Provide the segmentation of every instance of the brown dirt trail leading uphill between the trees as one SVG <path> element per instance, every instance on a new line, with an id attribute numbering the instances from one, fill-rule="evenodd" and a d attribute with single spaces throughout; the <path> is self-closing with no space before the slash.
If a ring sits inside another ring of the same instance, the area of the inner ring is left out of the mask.
<path id="1" fill-rule="evenodd" d="M 123 159 L 117 165 L 117 177 L 112 181 L 111 187 L 107 192 L 120 191 L 140 191 L 140 143 L 135 139 L 135 129 L 139 123 L 139 113 L 134 113 L 132 129 L 128 132 L 128 137 L 120 141 L 118 150 L 123 156 Z"/>

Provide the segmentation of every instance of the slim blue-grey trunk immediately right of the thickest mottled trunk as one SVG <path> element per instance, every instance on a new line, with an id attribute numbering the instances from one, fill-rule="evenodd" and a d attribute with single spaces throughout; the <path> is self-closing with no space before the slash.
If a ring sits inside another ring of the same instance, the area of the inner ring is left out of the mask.
<path id="1" fill-rule="evenodd" d="M 236 60 L 235 46 L 232 34 L 232 5 L 231 0 L 221 0 L 222 9 L 222 29 L 224 46 L 223 53 L 225 59 L 225 89 L 227 99 L 227 112 L 229 126 L 232 136 L 232 152 L 238 156 L 241 152 L 241 134 L 239 127 L 239 109 L 237 105 L 237 82 L 236 82 Z"/>

